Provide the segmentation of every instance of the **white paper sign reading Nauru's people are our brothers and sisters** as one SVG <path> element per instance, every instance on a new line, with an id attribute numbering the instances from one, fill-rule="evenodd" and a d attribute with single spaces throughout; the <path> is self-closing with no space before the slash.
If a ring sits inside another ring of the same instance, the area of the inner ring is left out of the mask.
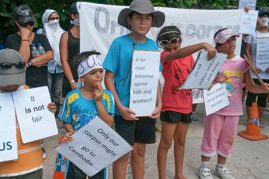
<path id="1" fill-rule="evenodd" d="M 226 83 L 215 84 L 210 91 L 203 90 L 206 115 L 210 115 L 229 105 Z"/>

